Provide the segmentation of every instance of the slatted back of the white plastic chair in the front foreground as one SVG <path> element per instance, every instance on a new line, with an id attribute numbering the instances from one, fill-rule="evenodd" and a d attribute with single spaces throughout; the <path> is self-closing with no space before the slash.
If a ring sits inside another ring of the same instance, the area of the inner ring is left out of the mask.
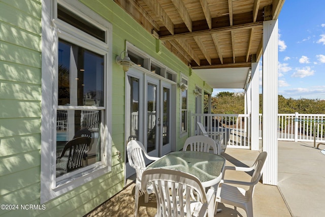
<path id="1" fill-rule="evenodd" d="M 153 189 L 157 217 L 214 215 L 214 189 L 206 193 L 200 180 L 191 174 L 170 169 L 148 169 L 143 172 L 141 188 L 148 192 Z M 191 192 L 198 196 L 191 197 Z"/>

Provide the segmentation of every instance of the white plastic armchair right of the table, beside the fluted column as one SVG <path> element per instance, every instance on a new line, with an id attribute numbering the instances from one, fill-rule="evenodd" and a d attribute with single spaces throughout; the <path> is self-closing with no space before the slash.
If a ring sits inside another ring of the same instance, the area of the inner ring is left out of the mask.
<path id="1" fill-rule="evenodd" d="M 217 187 L 217 194 L 215 198 L 215 213 L 217 211 L 218 202 L 225 203 L 229 205 L 233 205 L 236 207 L 240 207 L 246 211 L 247 217 L 253 216 L 253 194 L 255 185 L 258 183 L 259 179 L 263 173 L 263 165 L 267 158 L 267 152 L 259 153 L 258 157 L 256 158 L 253 166 L 251 167 L 230 167 L 226 166 L 224 171 L 226 170 L 237 170 L 237 171 L 244 171 L 249 172 L 254 170 L 253 175 L 251 177 L 250 182 L 246 181 L 238 181 L 238 180 L 226 180 L 221 179 Z M 224 174 L 224 173 L 223 173 Z M 248 190 L 246 191 L 243 188 L 235 187 L 233 185 L 246 185 Z"/>

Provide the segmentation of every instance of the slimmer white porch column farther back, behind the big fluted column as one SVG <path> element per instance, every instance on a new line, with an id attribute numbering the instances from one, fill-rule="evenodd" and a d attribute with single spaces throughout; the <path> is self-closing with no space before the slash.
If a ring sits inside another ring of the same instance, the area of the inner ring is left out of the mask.
<path id="1" fill-rule="evenodd" d="M 259 68 L 258 63 L 252 63 L 250 81 L 251 89 L 251 149 L 259 150 Z"/>

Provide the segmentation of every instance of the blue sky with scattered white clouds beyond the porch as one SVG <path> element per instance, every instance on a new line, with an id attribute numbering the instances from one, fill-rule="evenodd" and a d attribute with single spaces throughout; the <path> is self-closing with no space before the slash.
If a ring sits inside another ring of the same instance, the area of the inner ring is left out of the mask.
<path id="1" fill-rule="evenodd" d="M 279 16 L 278 94 L 325 100 L 325 4 L 286 0 Z M 261 58 L 262 59 L 262 58 Z M 262 63 L 260 63 L 262 70 Z M 260 84 L 262 84 L 262 72 Z M 241 92 L 242 89 L 214 89 Z"/>

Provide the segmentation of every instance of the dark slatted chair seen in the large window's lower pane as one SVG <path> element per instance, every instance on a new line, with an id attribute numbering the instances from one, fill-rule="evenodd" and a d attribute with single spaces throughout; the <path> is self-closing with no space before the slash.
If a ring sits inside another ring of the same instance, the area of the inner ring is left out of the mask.
<path id="1" fill-rule="evenodd" d="M 90 141 L 90 138 L 78 137 L 70 140 L 64 146 L 60 157 L 56 160 L 56 176 L 83 167 L 83 157 L 85 151 L 89 148 Z"/>

